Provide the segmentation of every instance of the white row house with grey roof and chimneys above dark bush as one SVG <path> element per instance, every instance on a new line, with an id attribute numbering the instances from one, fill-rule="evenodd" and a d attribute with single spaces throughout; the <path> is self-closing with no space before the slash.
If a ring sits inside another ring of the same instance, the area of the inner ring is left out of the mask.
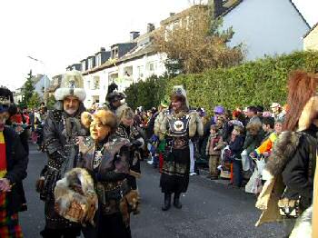
<path id="1" fill-rule="evenodd" d="M 124 92 L 130 84 L 151 75 L 165 73 L 165 55 L 157 54 L 151 42 L 154 25 L 148 24 L 147 33 L 131 32 L 131 42 L 111 46 L 111 55 L 104 64 L 96 64 L 83 72 L 86 99 L 84 105 L 103 104 L 108 85 L 115 83 Z M 82 61 L 84 64 L 84 61 Z"/>

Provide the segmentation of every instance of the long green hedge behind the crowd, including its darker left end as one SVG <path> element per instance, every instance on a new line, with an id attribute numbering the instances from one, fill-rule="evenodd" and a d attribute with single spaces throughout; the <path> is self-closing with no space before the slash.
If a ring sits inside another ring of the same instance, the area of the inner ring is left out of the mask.
<path id="1" fill-rule="evenodd" d="M 318 52 L 294 52 L 291 55 L 265 57 L 231 68 L 211 69 L 202 74 L 161 78 L 159 88 L 155 80 L 150 80 L 147 87 L 134 84 L 132 86 L 138 88 L 134 91 L 134 100 L 138 105 L 150 108 L 164 98 L 163 91 L 165 95 L 171 94 L 174 85 L 183 84 L 190 105 L 204 107 L 209 114 L 217 104 L 229 109 L 251 104 L 268 107 L 272 102 L 284 104 L 288 74 L 296 69 L 308 72 L 318 70 Z M 160 90 L 160 93 L 156 90 Z M 131 91 L 128 88 L 126 92 Z M 129 104 L 132 101 L 129 100 Z"/>

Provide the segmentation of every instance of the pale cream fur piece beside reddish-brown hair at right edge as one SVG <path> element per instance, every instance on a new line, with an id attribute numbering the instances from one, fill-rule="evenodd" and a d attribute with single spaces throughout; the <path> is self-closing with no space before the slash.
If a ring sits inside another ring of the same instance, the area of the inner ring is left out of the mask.
<path id="1" fill-rule="evenodd" d="M 303 107 L 303 112 L 299 118 L 298 131 L 304 131 L 313 123 L 313 119 L 318 115 L 318 96 L 311 97 Z"/>

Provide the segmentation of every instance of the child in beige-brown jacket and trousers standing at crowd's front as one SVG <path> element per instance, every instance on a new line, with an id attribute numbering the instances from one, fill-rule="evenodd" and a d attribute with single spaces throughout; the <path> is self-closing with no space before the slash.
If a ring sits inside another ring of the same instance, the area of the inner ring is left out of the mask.
<path id="1" fill-rule="evenodd" d="M 220 149 L 223 146 L 220 140 L 222 140 L 222 137 L 217 132 L 217 125 L 212 124 L 210 126 L 210 135 L 205 150 L 206 155 L 209 157 L 208 178 L 210 179 L 217 179 L 219 175 L 217 166 L 220 163 Z"/>

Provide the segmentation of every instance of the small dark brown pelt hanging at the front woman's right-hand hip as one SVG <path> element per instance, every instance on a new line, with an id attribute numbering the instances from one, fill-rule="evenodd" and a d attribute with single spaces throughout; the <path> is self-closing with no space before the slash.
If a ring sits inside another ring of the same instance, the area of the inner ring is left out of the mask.
<path id="1" fill-rule="evenodd" d="M 140 213 L 139 204 L 140 196 L 136 190 L 131 190 L 121 199 L 119 203 L 119 210 L 122 213 L 123 222 L 126 226 L 130 223 L 130 213 Z"/>

